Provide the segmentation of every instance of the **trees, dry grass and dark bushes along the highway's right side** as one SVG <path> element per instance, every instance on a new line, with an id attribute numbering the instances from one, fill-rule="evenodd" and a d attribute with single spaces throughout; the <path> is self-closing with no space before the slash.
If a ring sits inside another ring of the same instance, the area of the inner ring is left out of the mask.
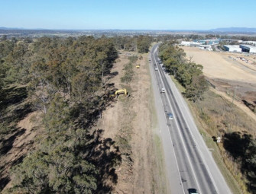
<path id="1" fill-rule="evenodd" d="M 233 103 L 208 90 L 202 65 L 185 60 L 173 43 L 160 46 L 160 59 L 188 99 L 200 132 L 234 193 L 256 189 L 255 122 Z M 217 138 L 221 142 L 217 143 Z"/>

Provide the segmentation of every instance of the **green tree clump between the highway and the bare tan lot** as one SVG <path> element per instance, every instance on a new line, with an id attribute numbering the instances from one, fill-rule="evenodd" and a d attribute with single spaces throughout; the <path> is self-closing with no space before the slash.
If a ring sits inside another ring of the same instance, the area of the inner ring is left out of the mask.
<path id="1" fill-rule="evenodd" d="M 159 56 L 164 66 L 179 83 L 185 87 L 184 96 L 196 102 L 203 99 L 208 84 L 203 76 L 203 66 L 186 59 L 183 49 L 176 46 L 175 41 L 167 41 L 160 45 Z"/>

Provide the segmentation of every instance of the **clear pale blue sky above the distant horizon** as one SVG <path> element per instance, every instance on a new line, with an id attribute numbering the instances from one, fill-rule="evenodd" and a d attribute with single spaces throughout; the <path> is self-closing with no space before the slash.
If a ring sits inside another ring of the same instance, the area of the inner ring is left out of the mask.
<path id="1" fill-rule="evenodd" d="M 0 0 L 0 27 L 209 30 L 256 27 L 256 0 Z"/>

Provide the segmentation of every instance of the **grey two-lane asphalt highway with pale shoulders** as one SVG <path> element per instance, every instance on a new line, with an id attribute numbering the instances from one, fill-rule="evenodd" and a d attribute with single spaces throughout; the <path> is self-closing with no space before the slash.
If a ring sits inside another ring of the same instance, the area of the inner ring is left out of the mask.
<path id="1" fill-rule="evenodd" d="M 151 77 L 171 193 L 232 193 L 203 142 L 190 110 L 151 49 Z M 154 70 L 157 67 L 158 70 Z M 162 87 L 165 92 L 161 92 Z M 173 114 L 169 119 L 167 113 Z"/>

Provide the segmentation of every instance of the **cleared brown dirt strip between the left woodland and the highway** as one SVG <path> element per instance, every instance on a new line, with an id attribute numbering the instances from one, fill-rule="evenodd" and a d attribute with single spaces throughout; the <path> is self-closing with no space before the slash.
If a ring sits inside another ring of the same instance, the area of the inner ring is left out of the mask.
<path id="1" fill-rule="evenodd" d="M 118 183 L 113 193 L 160 193 L 159 174 L 154 156 L 151 121 L 151 78 L 147 55 L 135 68 L 134 78 L 126 85 L 120 81 L 128 56 L 121 54 L 112 72 L 118 72 L 109 82 L 116 88 L 127 87 L 130 97 L 119 96 L 112 106 L 102 113 L 98 128 L 105 130 L 105 137 L 115 140 L 122 153 L 122 164 L 115 172 Z M 128 142 L 126 140 L 128 140 Z"/>

